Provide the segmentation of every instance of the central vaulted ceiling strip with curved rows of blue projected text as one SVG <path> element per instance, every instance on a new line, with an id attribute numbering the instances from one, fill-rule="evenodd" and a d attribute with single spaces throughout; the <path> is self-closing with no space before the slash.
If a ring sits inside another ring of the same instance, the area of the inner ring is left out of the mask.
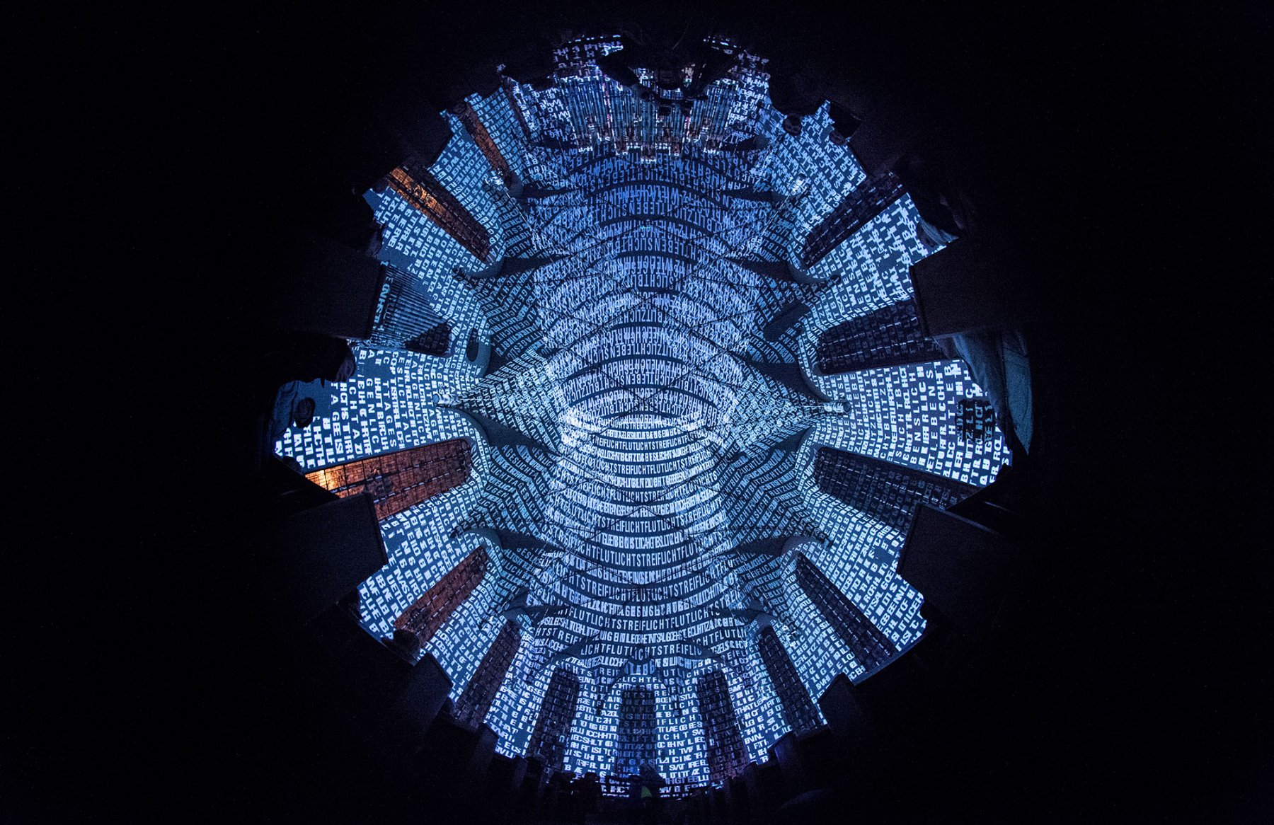
<path id="1" fill-rule="evenodd" d="M 569 199 L 538 205 L 544 227 L 589 239 L 587 252 L 536 272 L 547 354 L 524 356 L 455 402 L 552 433 L 536 517 L 519 523 L 522 508 L 501 493 L 470 523 L 516 526 L 552 549 L 529 586 L 535 601 L 571 611 L 536 628 L 547 653 L 595 639 L 580 658 L 609 681 L 637 654 L 689 671 L 684 662 L 711 649 L 739 667 L 743 634 L 715 612 L 736 591 L 730 550 L 817 528 L 781 499 L 766 519 L 731 519 L 748 503 L 734 489 L 738 457 L 838 409 L 747 362 L 759 297 L 776 286 L 729 258 L 748 255 L 778 213 L 720 196 L 747 181 L 697 158 L 640 167 L 603 158 L 573 178 Z M 524 372 L 543 393 L 531 410 L 506 391 Z"/>

